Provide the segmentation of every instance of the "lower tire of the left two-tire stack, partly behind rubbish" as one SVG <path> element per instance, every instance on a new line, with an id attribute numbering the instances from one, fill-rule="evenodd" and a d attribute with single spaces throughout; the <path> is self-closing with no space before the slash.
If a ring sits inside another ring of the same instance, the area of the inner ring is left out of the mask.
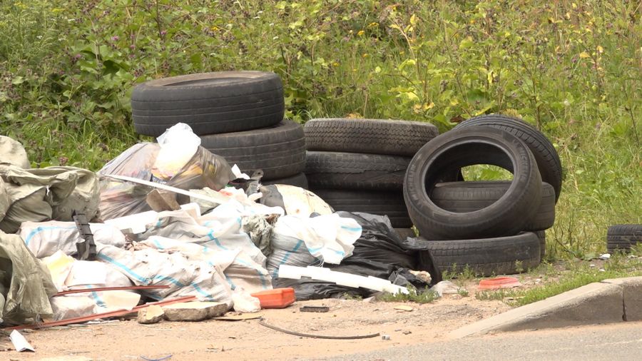
<path id="1" fill-rule="evenodd" d="M 302 126 L 294 121 L 200 139 L 203 148 L 223 156 L 230 166 L 236 164 L 245 173 L 263 169 L 265 180 L 294 176 L 305 168 L 305 136 Z"/>

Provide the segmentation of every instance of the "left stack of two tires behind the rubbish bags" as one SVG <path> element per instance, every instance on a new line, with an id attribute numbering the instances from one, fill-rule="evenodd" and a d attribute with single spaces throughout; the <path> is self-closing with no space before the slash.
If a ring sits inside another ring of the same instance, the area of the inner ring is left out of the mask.
<path id="1" fill-rule="evenodd" d="M 161 78 L 133 89 L 134 128 L 160 136 L 175 123 L 188 124 L 201 146 L 230 165 L 263 170 L 265 184 L 304 187 L 305 136 L 284 120 L 283 86 L 275 73 L 224 71 Z"/>

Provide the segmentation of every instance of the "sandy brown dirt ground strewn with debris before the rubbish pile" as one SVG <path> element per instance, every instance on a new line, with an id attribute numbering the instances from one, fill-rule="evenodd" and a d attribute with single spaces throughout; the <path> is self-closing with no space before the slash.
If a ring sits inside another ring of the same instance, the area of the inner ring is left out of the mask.
<path id="1" fill-rule="evenodd" d="M 303 305 L 324 305 L 329 312 L 300 312 Z M 412 310 L 397 310 L 400 305 Z M 473 295 L 444 295 L 429 303 L 315 300 L 295 302 L 281 310 L 263 310 L 264 322 L 317 335 L 369 335 L 361 340 L 322 340 L 288 335 L 259 320 L 168 322 L 139 325 L 120 320 L 96 325 L 23 331 L 36 352 L 6 350 L 2 360 L 314 360 L 362 350 L 411 345 L 444 339 L 450 330 L 504 312 L 501 301 L 480 301 Z M 389 337 L 383 340 L 382 335 Z"/>

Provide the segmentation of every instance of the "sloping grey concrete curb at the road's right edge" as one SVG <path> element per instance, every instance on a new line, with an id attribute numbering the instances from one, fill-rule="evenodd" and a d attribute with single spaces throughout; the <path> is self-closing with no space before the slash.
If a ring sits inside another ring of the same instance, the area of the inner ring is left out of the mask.
<path id="1" fill-rule="evenodd" d="M 449 333 L 449 338 L 642 320 L 642 277 L 590 283 Z"/>

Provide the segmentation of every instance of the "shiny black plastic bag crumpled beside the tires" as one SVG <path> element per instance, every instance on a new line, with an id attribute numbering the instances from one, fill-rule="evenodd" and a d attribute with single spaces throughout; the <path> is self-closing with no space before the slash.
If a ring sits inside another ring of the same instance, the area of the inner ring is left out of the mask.
<path id="1" fill-rule="evenodd" d="M 362 235 L 354 243 L 352 256 L 342 260 L 340 265 L 326 263 L 323 267 L 353 275 L 383 278 L 395 285 L 413 285 L 417 289 L 429 288 L 442 280 L 441 272 L 434 265 L 426 246 L 412 238 L 402 240 L 386 216 L 348 212 L 337 212 L 337 215 L 356 220 L 362 227 Z M 426 283 L 410 270 L 427 271 L 432 280 Z M 285 280 L 274 277 L 272 285 L 275 288 L 294 288 L 297 300 L 337 298 L 344 294 L 368 297 L 373 294 L 371 290 L 309 279 Z"/>

